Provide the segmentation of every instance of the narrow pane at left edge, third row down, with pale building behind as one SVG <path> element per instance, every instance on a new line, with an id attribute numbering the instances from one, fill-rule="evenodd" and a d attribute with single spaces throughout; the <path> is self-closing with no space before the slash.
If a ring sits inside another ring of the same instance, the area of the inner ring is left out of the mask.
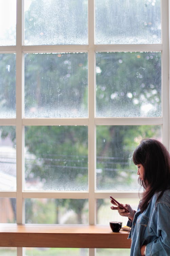
<path id="1" fill-rule="evenodd" d="M 16 190 L 16 132 L 13 126 L 0 126 L 0 177 L 0 190 Z"/>

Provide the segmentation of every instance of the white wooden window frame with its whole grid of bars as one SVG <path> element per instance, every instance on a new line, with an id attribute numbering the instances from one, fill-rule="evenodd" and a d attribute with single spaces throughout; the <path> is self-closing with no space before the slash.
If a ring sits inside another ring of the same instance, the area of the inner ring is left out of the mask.
<path id="1" fill-rule="evenodd" d="M 16 167 L 17 190 L 0 191 L 0 197 L 16 198 L 17 223 L 24 223 L 25 198 L 72 198 L 89 200 L 89 224 L 96 224 L 95 202 L 98 198 L 108 198 L 112 191 L 97 192 L 95 190 L 96 169 L 96 125 L 161 125 L 162 141 L 169 150 L 170 118 L 169 118 L 169 1 L 161 1 L 162 10 L 162 44 L 120 44 L 96 45 L 95 42 L 95 0 L 88 0 L 88 45 L 40 45 L 24 46 L 23 44 L 23 1 L 17 0 L 16 46 L 0 46 L 0 53 L 16 53 L 16 118 L 0 119 L 0 125 L 16 126 Z M 95 53 L 96 52 L 162 52 L 162 117 L 152 118 L 97 118 L 95 117 Z M 88 53 L 88 118 L 24 118 L 23 77 L 24 53 L 49 52 L 87 52 Z M 94 111 L 92 111 L 94 110 Z M 26 125 L 87 125 L 88 126 L 88 174 L 89 191 L 23 191 L 24 184 L 24 126 Z M 138 198 L 138 192 L 114 192 L 117 198 Z M 23 255 L 22 248 L 17 255 Z M 89 255 L 95 255 L 89 249 Z"/>

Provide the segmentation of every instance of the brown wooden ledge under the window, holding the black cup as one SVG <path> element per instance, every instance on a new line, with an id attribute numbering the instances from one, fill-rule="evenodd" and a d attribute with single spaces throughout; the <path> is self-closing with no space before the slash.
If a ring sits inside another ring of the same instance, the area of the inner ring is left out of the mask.
<path id="1" fill-rule="evenodd" d="M 127 238 L 109 226 L 0 224 L 1 247 L 130 248 Z"/>

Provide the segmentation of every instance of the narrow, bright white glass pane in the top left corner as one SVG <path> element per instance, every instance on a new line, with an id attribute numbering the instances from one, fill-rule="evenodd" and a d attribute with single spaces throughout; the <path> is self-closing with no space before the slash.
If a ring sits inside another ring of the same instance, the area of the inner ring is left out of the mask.
<path id="1" fill-rule="evenodd" d="M 0 45 L 16 45 L 16 0 L 0 1 Z"/>

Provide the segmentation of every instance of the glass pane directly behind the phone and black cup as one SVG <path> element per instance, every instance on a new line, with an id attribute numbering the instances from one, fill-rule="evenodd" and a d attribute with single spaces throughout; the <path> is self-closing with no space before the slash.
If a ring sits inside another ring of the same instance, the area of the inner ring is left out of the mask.
<path id="1" fill-rule="evenodd" d="M 114 197 L 114 193 L 111 192 Z M 137 210 L 140 199 L 139 198 L 115 198 L 122 204 L 128 203 L 132 209 Z M 121 221 L 122 226 L 126 226 L 128 217 L 121 216 L 118 211 L 111 210 L 111 200 L 108 199 L 97 199 L 97 218 L 96 222 L 99 225 L 109 226 L 111 221 Z"/>

